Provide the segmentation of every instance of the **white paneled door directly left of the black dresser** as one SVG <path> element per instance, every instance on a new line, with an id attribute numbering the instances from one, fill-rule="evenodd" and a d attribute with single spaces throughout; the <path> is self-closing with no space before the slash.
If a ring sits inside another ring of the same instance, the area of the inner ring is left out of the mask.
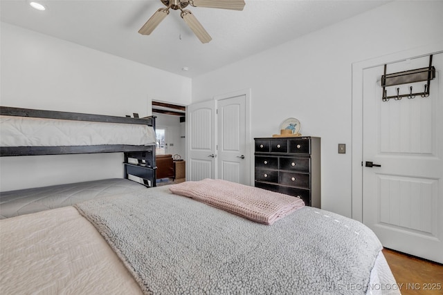
<path id="1" fill-rule="evenodd" d="M 217 178 L 249 184 L 246 153 L 246 96 L 217 101 Z"/>

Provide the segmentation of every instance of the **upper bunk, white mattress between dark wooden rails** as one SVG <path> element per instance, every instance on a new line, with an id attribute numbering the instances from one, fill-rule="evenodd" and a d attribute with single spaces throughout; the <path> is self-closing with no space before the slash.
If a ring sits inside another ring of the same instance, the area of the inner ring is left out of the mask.
<path id="1" fill-rule="evenodd" d="M 152 153 L 155 116 L 143 119 L 0 106 L 0 156 Z M 154 150 L 155 151 L 155 150 Z"/>

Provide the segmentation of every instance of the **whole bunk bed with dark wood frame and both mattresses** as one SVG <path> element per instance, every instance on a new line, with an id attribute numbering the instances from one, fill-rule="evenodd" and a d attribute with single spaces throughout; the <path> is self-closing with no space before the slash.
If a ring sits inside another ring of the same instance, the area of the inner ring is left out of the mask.
<path id="1" fill-rule="evenodd" d="M 0 218 L 156 186 L 155 116 L 143 119 L 0 106 L 0 156 L 123 153 L 124 179 L 0 193 Z M 134 182 L 132 180 L 137 180 Z"/>

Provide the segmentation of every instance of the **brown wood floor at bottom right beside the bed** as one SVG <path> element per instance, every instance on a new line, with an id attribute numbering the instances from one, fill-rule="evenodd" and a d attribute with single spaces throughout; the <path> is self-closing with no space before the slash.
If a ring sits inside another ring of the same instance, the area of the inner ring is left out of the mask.
<path id="1" fill-rule="evenodd" d="M 443 294 L 443 265 L 390 249 L 383 255 L 404 295 Z"/>

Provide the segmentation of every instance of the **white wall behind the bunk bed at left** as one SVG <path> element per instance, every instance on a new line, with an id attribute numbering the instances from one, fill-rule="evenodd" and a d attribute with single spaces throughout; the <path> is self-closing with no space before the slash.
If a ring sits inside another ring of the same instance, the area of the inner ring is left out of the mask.
<path id="1" fill-rule="evenodd" d="M 174 87 L 169 87 L 170 83 Z M 191 101 L 191 79 L 1 23 L 2 106 L 151 115 L 152 98 Z M 0 191 L 123 177 L 123 154 L 0 158 Z"/>

